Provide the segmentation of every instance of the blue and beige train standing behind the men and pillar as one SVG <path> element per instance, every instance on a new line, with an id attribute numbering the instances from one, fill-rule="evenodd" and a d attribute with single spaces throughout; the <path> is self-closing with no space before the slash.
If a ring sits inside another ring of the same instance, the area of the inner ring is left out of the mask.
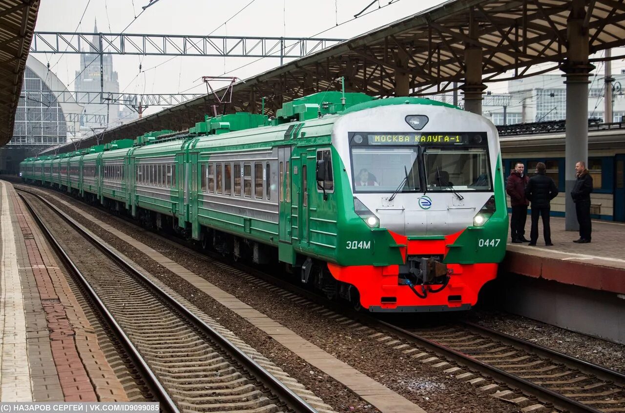
<path id="1" fill-rule="evenodd" d="M 547 127 L 556 130 L 547 132 Z M 501 138 L 506 177 L 516 162 L 524 163 L 530 176 L 536 172 L 536 163 L 544 162 L 547 166 L 546 175 L 556 182 L 559 190 L 551 202 L 551 215 L 564 216 L 565 197 L 568 196 L 564 178 L 564 122 L 544 122 L 533 127 L 531 124 L 509 125 L 501 129 L 509 133 Z M 523 133 L 529 130 L 533 133 Z M 592 218 L 625 221 L 624 165 L 625 124 L 590 125 L 587 167 L 594 183 L 591 193 Z M 574 165 L 568 167 L 573 168 Z"/>

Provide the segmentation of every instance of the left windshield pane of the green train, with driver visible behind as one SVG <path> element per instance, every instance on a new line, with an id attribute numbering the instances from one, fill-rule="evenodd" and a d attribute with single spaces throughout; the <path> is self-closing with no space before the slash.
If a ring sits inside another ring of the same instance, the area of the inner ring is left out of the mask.
<path id="1" fill-rule="evenodd" d="M 417 147 L 353 147 L 354 192 L 421 190 Z"/>

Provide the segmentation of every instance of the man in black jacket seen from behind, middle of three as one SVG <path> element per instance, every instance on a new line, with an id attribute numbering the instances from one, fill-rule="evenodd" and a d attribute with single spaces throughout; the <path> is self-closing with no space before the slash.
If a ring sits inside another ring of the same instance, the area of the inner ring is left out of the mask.
<path id="1" fill-rule="evenodd" d="M 557 195 L 557 187 L 553 180 L 545 175 L 545 164 L 538 162 L 537 174 L 529 178 L 525 187 L 525 197 L 531 202 L 532 229 L 529 232 L 529 245 L 536 245 L 538 240 L 538 217 L 542 216 L 542 235 L 545 245 L 551 246 L 551 227 L 549 226 L 550 202 Z"/>

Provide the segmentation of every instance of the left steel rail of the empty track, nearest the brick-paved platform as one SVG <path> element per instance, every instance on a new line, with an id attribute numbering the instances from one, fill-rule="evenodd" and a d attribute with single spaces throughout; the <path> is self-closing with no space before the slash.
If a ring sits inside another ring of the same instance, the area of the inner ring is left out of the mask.
<path id="1" fill-rule="evenodd" d="M 100 313 L 103 314 L 104 319 L 109 324 L 109 328 L 111 328 L 111 331 L 113 331 L 113 334 L 115 334 L 121 346 L 124 347 L 124 351 L 126 351 L 126 354 L 128 354 L 130 359 L 133 361 L 134 366 L 138 368 L 139 374 L 141 374 L 141 377 L 143 378 L 144 382 L 148 385 L 150 391 L 152 392 L 156 400 L 159 401 L 159 407 L 163 411 L 166 411 L 166 412 L 180 413 L 178 407 L 176 406 L 174 401 L 171 399 L 171 397 L 169 397 L 168 392 L 163 387 L 163 384 L 161 384 L 158 377 L 154 375 L 154 372 L 149 367 L 148 362 L 145 361 L 145 359 L 141 356 L 138 349 L 134 346 L 130 338 L 128 338 L 126 333 L 124 333 L 124 330 L 115 320 L 115 318 L 113 317 L 113 314 L 111 314 L 108 308 L 106 308 L 106 306 L 104 305 L 102 300 L 99 298 L 96 291 L 94 291 L 94 289 L 91 288 L 91 285 L 89 285 L 83 273 L 78 269 L 76 264 L 74 264 L 74 261 L 71 258 L 69 258 L 69 255 L 65 252 L 65 250 L 63 250 L 63 247 L 61 246 L 59 241 L 54 237 L 54 235 L 49 230 L 49 228 L 44 223 L 44 221 L 41 219 L 41 216 L 39 216 L 39 213 L 37 213 L 37 211 L 34 210 L 31 203 L 28 202 L 26 197 L 24 197 L 24 195 L 19 193 L 20 190 L 17 190 L 17 191 L 18 191 L 19 197 L 22 198 L 22 200 L 24 201 L 24 204 L 26 204 L 26 207 L 30 211 L 32 217 L 37 222 L 37 225 L 39 225 L 39 228 L 41 228 L 41 230 L 44 231 L 44 235 L 46 235 L 46 238 L 48 239 L 48 241 L 51 243 L 54 249 L 59 253 L 59 255 L 61 255 L 61 258 L 65 261 L 68 268 L 71 271 L 73 271 L 74 275 L 76 275 L 79 282 L 81 283 L 81 286 L 83 286 L 85 291 L 88 293 L 89 298 L 93 301 L 94 304 L 96 304 L 96 307 L 98 308 Z M 23 192 L 28 192 L 28 191 L 23 191 Z M 28 192 L 28 193 L 34 197 L 39 197 L 39 195 L 35 193 L 32 193 L 32 192 Z"/>

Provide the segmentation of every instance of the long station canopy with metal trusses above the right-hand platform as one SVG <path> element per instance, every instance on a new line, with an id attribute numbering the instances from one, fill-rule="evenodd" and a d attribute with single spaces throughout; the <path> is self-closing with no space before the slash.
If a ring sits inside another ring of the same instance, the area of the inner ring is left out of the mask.
<path id="1" fill-rule="evenodd" d="M 407 75 L 412 95 L 427 96 L 452 89 L 464 79 L 464 50 L 482 49 L 484 82 L 529 75 L 529 68 L 551 62 L 541 72 L 559 67 L 567 55 L 567 20 L 571 0 L 452 0 L 379 27 L 296 61 L 268 70 L 233 86 L 226 113 L 266 114 L 302 95 L 341 87 L 347 92 L 394 95 L 395 75 Z M 589 0 L 583 27 L 591 54 L 625 45 L 623 0 Z M 472 36 L 469 36 L 469 26 Z M 615 56 L 612 59 L 622 59 Z M 597 59 L 602 60 L 602 59 Z M 592 61 L 591 61 L 592 62 Z M 531 73 L 536 74 L 536 71 Z M 494 79 L 497 77 L 496 79 Z M 562 79 L 564 81 L 564 78 Z M 98 135 L 99 142 L 136 137 L 152 130 L 184 130 L 211 114 L 213 95 L 189 100 Z M 86 138 L 81 147 L 96 143 Z M 74 150 L 73 144 L 56 148 Z"/>

